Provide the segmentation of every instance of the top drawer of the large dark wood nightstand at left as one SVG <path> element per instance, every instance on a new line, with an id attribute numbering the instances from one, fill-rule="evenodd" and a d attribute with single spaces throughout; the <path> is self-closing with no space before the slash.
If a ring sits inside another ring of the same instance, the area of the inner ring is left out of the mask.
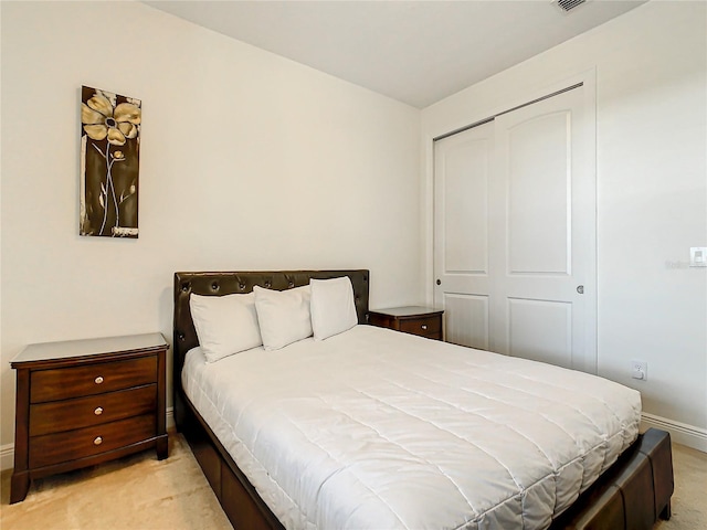
<path id="1" fill-rule="evenodd" d="M 32 372 L 30 402 L 42 403 L 129 389 L 157 381 L 157 357 Z"/>

